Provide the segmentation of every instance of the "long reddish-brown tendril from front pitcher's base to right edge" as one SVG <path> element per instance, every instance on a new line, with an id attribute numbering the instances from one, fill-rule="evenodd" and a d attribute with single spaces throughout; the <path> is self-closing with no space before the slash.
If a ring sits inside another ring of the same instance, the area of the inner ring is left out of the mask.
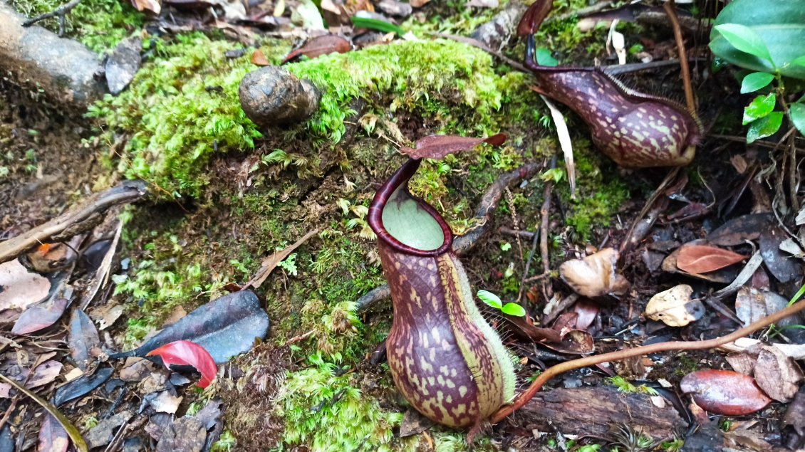
<path id="1" fill-rule="evenodd" d="M 505 417 L 509 416 L 511 413 L 514 413 L 514 411 L 521 409 L 526 405 L 526 403 L 528 403 L 528 401 L 531 400 L 532 397 L 534 397 L 537 392 L 539 392 L 539 389 L 543 387 L 543 384 L 546 384 L 548 380 L 551 380 L 551 378 L 563 374 L 564 372 L 579 368 L 586 368 L 588 366 L 594 366 L 596 364 L 606 363 L 609 361 L 620 361 L 628 358 L 634 358 L 635 356 L 650 355 L 652 353 L 659 353 L 661 351 L 708 350 L 710 348 L 720 347 L 726 343 L 733 342 L 736 339 L 741 339 L 742 337 L 751 335 L 755 331 L 762 330 L 772 323 L 778 323 L 783 318 L 796 314 L 802 310 L 805 310 L 805 301 L 796 302 L 794 305 L 788 306 L 784 310 L 779 310 L 774 314 L 761 318 L 748 327 L 741 328 L 740 330 L 734 331 L 729 335 L 721 336 L 720 338 L 716 339 L 652 343 L 642 347 L 612 351 L 602 355 L 585 356 L 584 358 L 579 358 L 578 360 L 571 360 L 556 364 L 555 366 L 547 368 L 545 372 L 541 373 L 536 380 L 531 383 L 525 392 L 522 392 L 522 394 L 514 399 L 514 403 L 511 405 L 506 405 L 502 409 L 497 410 L 497 413 L 494 413 L 489 421 L 493 424 L 497 424 L 497 422 L 502 421 Z"/>

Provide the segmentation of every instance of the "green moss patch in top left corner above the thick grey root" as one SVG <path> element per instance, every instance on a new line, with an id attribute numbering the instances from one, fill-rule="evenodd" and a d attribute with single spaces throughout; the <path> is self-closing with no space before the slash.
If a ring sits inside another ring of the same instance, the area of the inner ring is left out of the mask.
<path id="1" fill-rule="evenodd" d="M 62 0 L 10 0 L 20 13 L 35 17 L 56 10 Z M 78 39 L 90 50 L 98 53 L 113 49 L 134 30 L 142 27 L 145 15 L 135 10 L 130 2 L 120 0 L 82 0 L 64 22 L 65 35 Z M 38 25 L 58 32 L 57 18 L 48 18 Z"/>

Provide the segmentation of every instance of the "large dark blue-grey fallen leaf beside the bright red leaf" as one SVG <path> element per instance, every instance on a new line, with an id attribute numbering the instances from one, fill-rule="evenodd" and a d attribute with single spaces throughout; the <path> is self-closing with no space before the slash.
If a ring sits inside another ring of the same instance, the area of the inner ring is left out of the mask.
<path id="1" fill-rule="evenodd" d="M 265 339 L 268 314 L 254 292 L 242 290 L 208 302 L 160 331 L 140 347 L 109 355 L 127 358 L 147 355 L 151 350 L 177 340 L 189 340 L 208 351 L 216 364 L 251 350 L 254 339 Z"/>

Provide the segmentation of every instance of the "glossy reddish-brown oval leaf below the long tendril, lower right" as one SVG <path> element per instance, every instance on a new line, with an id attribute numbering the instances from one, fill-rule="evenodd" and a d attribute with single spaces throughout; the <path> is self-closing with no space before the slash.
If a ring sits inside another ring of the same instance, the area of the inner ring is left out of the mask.
<path id="1" fill-rule="evenodd" d="M 692 372 L 679 382 L 679 388 L 690 393 L 696 405 L 725 416 L 754 413 L 771 403 L 751 376 L 733 371 L 705 369 Z"/>

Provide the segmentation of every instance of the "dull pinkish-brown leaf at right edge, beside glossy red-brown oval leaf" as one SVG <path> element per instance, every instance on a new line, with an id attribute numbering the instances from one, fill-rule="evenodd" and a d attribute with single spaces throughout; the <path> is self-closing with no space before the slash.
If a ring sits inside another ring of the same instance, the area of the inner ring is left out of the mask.
<path id="1" fill-rule="evenodd" d="M 754 370 L 758 386 L 778 402 L 791 401 L 803 380 L 803 372 L 794 360 L 775 347 L 762 346 Z"/>

